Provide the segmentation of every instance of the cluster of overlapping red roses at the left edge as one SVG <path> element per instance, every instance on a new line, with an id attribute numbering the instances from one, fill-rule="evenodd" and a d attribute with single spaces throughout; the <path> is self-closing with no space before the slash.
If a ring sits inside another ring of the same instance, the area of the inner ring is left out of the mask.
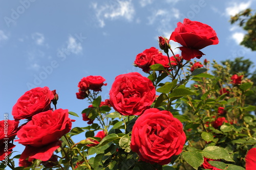
<path id="1" fill-rule="evenodd" d="M 25 145 L 25 150 L 20 155 L 19 165 L 28 166 L 34 159 L 48 161 L 53 152 L 61 146 L 59 140 L 71 130 L 72 122 L 68 110 L 51 108 L 51 103 L 56 105 L 58 94 L 48 87 L 36 87 L 23 94 L 13 106 L 12 115 L 15 120 L 8 120 L 8 142 L 17 135 L 15 140 Z M 24 125 L 18 127 L 20 119 L 28 119 Z M 4 120 L 0 127 L 4 127 Z M 3 140 L 4 136 L 1 136 Z M 2 143 L 2 142 L 1 142 Z M 8 154 L 15 145 L 8 143 Z M 2 151 L 2 150 L 1 150 Z M 1 160 L 3 160 L 1 152 Z"/>

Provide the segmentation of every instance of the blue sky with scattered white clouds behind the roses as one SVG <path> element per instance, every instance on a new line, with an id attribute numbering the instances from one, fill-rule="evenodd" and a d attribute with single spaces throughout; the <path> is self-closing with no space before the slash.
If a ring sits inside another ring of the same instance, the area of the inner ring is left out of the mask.
<path id="1" fill-rule="evenodd" d="M 133 71 L 147 76 L 133 66 L 136 55 L 151 46 L 159 48 L 158 36 L 169 38 L 184 18 L 211 26 L 220 40 L 205 47 L 206 55 L 198 61 L 244 56 L 256 63 L 256 52 L 239 45 L 245 32 L 229 23 L 230 15 L 246 8 L 255 10 L 256 1 L 2 0 L 0 112 L 13 119 L 12 106 L 21 95 L 48 86 L 59 94 L 58 108 L 80 114 L 89 105 L 76 99 L 82 77 L 104 77 L 108 86 L 101 95 L 108 99 L 116 76 Z M 87 126 L 75 119 L 73 127 Z"/>

